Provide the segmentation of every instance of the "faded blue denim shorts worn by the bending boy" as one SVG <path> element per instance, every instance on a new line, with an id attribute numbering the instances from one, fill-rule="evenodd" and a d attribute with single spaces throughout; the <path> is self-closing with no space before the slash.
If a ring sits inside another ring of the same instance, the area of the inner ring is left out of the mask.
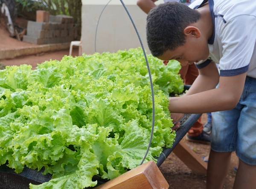
<path id="1" fill-rule="evenodd" d="M 234 109 L 212 112 L 211 149 L 234 152 L 244 163 L 256 165 L 256 79 L 246 77 Z"/>

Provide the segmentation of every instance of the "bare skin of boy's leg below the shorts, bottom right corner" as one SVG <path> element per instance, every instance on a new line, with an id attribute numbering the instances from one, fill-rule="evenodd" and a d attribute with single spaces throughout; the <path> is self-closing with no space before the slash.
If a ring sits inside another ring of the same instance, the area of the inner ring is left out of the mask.
<path id="1" fill-rule="evenodd" d="M 248 165 L 239 160 L 236 179 L 233 189 L 255 189 L 256 188 L 256 166 Z"/>

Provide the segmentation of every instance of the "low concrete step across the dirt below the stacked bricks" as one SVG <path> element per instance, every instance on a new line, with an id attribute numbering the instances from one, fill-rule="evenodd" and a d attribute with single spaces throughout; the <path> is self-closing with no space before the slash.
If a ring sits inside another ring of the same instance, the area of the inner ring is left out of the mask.
<path id="1" fill-rule="evenodd" d="M 15 57 L 38 54 L 42 52 L 53 52 L 58 50 L 69 49 L 70 43 L 53 43 L 19 49 L 6 49 L 0 51 L 0 60 L 13 59 Z"/>

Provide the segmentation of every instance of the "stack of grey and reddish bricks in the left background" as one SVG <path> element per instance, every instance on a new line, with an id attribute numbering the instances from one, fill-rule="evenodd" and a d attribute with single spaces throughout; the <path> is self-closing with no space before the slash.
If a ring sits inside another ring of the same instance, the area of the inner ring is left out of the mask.
<path id="1" fill-rule="evenodd" d="M 23 41 L 34 44 L 68 43 L 77 38 L 73 17 L 67 15 L 39 14 L 37 21 L 29 21 Z M 49 20 L 49 22 L 48 22 Z"/>

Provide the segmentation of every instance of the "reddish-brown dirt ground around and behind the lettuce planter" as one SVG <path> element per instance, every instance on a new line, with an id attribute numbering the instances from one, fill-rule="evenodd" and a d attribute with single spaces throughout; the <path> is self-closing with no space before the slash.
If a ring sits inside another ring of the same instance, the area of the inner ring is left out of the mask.
<path id="1" fill-rule="evenodd" d="M 26 24 L 26 23 L 25 23 Z M 0 51 L 3 49 L 19 48 L 24 46 L 36 46 L 29 43 L 19 42 L 17 39 L 9 37 L 8 31 L 3 28 L 0 22 Z M 33 68 L 46 60 L 61 60 L 68 54 L 69 50 L 63 50 L 51 53 L 35 54 L 26 57 L 17 57 L 12 60 L 0 60 L 5 65 L 31 64 Z M 78 50 L 75 49 L 73 56 L 77 56 Z M 206 114 L 203 114 L 203 122 L 206 122 Z M 199 143 L 191 143 L 183 138 L 186 145 L 189 146 L 200 158 L 209 154 L 210 146 Z M 236 166 L 238 159 L 233 153 L 231 165 L 226 177 L 223 188 L 232 189 L 236 173 L 233 167 Z M 164 163 L 160 166 L 160 171 L 169 183 L 169 189 L 204 189 L 206 186 L 206 175 L 196 175 L 179 159 L 174 153 L 171 153 Z"/>

